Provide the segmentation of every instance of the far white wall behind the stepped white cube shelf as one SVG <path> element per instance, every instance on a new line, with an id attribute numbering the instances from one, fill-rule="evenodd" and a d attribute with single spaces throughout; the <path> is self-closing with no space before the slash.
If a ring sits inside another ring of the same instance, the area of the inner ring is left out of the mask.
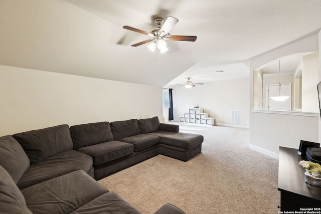
<path id="1" fill-rule="evenodd" d="M 199 106 L 215 118 L 215 125 L 248 127 L 249 79 L 204 83 L 191 89 L 174 86 L 174 119 Z M 231 110 L 239 110 L 239 123 L 231 123 Z"/>

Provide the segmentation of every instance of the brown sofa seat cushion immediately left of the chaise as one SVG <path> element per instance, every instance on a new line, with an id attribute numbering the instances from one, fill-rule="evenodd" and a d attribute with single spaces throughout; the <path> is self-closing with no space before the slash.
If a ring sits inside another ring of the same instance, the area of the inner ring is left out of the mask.
<path id="1" fill-rule="evenodd" d="M 137 134 L 134 136 L 121 138 L 119 141 L 133 144 L 134 151 L 139 151 L 157 145 L 159 143 L 159 137 L 148 134 Z"/>

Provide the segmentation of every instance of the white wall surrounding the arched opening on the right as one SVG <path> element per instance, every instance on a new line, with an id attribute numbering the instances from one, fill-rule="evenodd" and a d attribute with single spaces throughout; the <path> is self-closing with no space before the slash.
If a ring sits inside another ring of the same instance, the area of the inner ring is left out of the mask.
<path id="1" fill-rule="evenodd" d="M 319 36 L 314 34 L 252 59 L 250 63 L 251 81 L 253 80 L 253 71 L 268 62 L 296 53 L 318 52 L 318 41 Z M 315 79 L 319 79 L 319 77 L 315 77 Z M 316 90 L 316 86 L 314 87 Z M 252 108 L 252 84 L 250 91 L 250 108 Z M 315 97 L 314 99 L 317 100 L 318 98 Z M 319 140 L 319 120 L 318 113 L 298 116 L 251 111 L 249 146 L 277 157 L 279 146 L 298 148 L 300 140 L 317 142 Z"/>

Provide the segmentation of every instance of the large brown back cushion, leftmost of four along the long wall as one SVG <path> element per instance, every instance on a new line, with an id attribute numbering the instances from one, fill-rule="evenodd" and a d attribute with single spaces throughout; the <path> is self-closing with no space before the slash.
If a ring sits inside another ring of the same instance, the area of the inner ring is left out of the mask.
<path id="1" fill-rule="evenodd" d="M 68 125 L 22 132 L 13 136 L 24 148 L 30 159 L 30 164 L 73 149 Z"/>

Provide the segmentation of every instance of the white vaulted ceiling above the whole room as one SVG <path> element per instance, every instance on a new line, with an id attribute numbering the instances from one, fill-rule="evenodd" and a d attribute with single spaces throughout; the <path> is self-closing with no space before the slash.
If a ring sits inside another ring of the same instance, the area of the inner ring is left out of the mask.
<path id="1" fill-rule="evenodd" d="M 1 0 L 0 64 L 165 86 L 249 77 L 248 59 L 321 29 L 319 0 Z M 130 32 L 179 19 L 154 61 Z M 216 72 L 223 70 L 224 72 Z"/>

